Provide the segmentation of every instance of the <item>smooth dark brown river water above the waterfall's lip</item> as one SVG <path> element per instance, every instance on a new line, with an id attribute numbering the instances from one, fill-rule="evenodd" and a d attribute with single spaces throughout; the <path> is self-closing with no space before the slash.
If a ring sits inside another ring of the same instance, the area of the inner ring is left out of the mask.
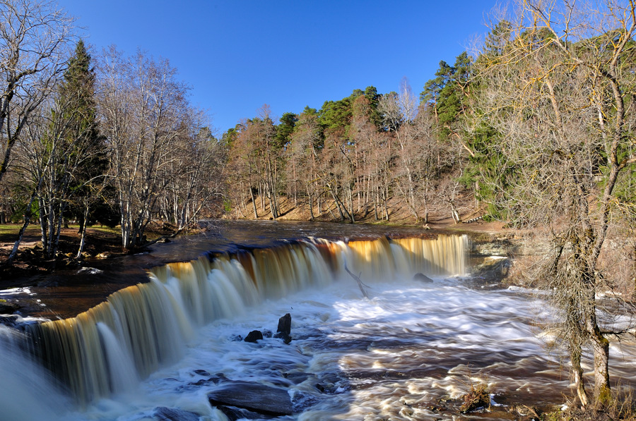
<path id="1" fill-rule="evenodd" d="M 148 269 L 169 262 L 188 262 L 201 255 L 266 248 L 309 237 L 348 240 L 382 236 L 434 237 L 435 234 L 420 228 L 363 224 L 215 220 L 209 223 L 206 233 L 157 243 L 136 255 L 91 259 L 80 269 L 61 269 L 54 274 L 42 275 L 37 280 L 42 286 L 28 288 L 28 293 L 16 295 L 16 298 L 23 305 L 23 315 L 73 317 L 102 303 L 115 291 L 148 281 Z"/>

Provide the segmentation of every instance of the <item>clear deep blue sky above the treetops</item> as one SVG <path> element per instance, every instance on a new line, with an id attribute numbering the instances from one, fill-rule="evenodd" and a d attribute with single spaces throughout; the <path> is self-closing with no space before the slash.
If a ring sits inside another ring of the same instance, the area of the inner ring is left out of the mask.
<path id="1" fill-rule="evenodd" d="M 263 104 L 319 109 L 373 85 L 419 94 L 440 60 L 483 35 L 495 0 L 59 0 L 94 52 L 169 59 L 218 134 Z"/>

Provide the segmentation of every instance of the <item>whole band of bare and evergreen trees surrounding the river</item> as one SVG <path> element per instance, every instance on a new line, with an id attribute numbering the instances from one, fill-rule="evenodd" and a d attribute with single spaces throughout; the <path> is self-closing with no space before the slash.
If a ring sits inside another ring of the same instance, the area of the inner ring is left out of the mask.
<path id="1" fill-rule="evenodd" d="M 396 207 L 420 225 L 433 214 L 502 220 L 544 232 L 534 270 L 563 312 L 577 395 L 607 401 L 611 332 L 595 293 L 616 276 L 633 288 L 636 4 L 587 6 L 520 3 L 475 51 L 440 61 L 419 94 L 405 78 L 320 109 L 273 116 L 264 105 L 218 133 L 166 59 L 89 51 L 53 3 L 2 1 L 0 223 L 22 224 L 3 264 L 29 224 L 56 256 L 71 220 L 81 233 L 119 226 L 127 250 L 150 243 L 156 221 L 179 233 L 290 206 L 351 223 L 391 222 Z"/>

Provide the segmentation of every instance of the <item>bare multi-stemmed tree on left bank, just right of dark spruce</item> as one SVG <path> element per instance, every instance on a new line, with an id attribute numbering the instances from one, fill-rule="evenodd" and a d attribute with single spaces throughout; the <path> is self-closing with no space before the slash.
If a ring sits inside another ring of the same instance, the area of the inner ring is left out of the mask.
<path id="1" fill-rule="evenodd" d="M 187 88 L 166 60 L 131 59 L 111 47 L 100 60 L 98 106 L 110 149 L 121 214 L 122 245 L 146 243 L 144 232 L 170 179 L 173 152 L 187 138 Z"/>

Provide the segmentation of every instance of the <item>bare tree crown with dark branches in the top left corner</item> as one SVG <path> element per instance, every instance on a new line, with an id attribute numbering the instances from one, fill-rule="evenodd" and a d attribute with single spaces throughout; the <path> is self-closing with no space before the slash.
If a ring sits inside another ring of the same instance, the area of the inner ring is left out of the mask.
<path id="1" fill-rule="evenodd" d="M 72 30 L 54 1 L 0 1 L 0 181 L 28 118 L 65 69 Z"/>

